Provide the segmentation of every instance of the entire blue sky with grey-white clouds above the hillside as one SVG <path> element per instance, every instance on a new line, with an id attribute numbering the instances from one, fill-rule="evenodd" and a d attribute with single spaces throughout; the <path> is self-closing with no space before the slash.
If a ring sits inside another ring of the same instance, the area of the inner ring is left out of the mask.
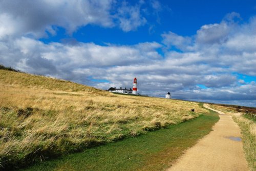
<path id="1" fill-rule="evenodd" d="M 0 64 L 256 107 L 256 1 L 1 0 Z"/>

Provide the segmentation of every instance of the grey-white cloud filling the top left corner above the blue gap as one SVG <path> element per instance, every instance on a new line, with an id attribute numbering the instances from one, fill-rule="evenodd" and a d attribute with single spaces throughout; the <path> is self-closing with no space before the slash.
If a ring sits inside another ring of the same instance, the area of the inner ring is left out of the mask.
<path id="1" fill-rule="evenodd" d="M 30 35 L 35 38 L 55 35 L 57 27 L 72 34 L 79 27 L 99 25 L 112 28 L 119 26 L 124 32 L 145 25 L 141 3 L 130 5 L 123 2 L 118 10 L 116 1 L 1 1 L 0 38 Z"/>

